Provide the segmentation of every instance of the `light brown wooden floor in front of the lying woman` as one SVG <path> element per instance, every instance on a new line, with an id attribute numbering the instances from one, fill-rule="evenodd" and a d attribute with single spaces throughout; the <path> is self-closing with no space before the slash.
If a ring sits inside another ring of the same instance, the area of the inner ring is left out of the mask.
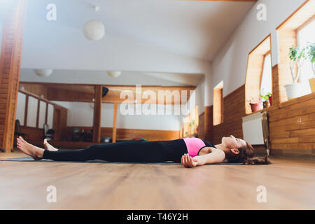
<path id="1" fill-rule="evenodd" d="M 0 153 L 19 158 L 22 153 Z M 315 209 L 315 162 L 267 166 L 0 161 L 0 209 Z M 57 202 L 48 203 L 48 186 Z M 257 202 L 265 186 L 267 202 Z"/>

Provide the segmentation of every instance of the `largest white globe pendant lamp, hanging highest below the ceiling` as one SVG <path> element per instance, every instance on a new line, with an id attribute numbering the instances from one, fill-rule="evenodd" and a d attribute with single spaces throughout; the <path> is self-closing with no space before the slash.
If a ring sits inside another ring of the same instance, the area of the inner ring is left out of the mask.
<path id="1" fill-rule="evenodd" d="M 84 36 L 91 41 L 99 41 L 105 34 L 105 27 L 97 20 L 87 21 L 83 27 Z"/>

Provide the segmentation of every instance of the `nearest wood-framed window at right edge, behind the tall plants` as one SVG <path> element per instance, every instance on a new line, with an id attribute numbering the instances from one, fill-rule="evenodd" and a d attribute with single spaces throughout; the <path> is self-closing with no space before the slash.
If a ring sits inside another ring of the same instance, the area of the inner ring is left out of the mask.
<path id="1" fill-rule="evenodd" d="M 314 8 L 315 1 L 304 1 L 294 13 L 276 28 L 279 36 L 279 64 L 277 65 L 278 78 L 275 90 L 279 94 L 279 96 L 276 96 L 276 100 L 280 104 L 288 101 L 286 85 L 293 82 L 288 56 L 289 49 L 292 46 L 303 46 L 307 42 L 314 43 Z M 299 81 L 303 85 L 303 90 L 299 92 L 300 96 L 311 92 L 308 79 L 313 73 L 307 71 L 311 69 L 309 66 L 309 62 L 305 61 L 301 69 Z"/>

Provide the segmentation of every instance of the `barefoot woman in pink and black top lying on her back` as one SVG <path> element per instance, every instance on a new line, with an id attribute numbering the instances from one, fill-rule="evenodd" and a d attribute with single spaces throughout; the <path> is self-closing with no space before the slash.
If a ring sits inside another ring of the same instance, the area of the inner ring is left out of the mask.
<path id="1" fill-rule="evenodd" d="M 91 145 L 84 149 L 59 150 L 46 139 L 43 148 L 33 146 L 18 137 L 18 148 L 34 160 L 109 162 L 181 162 L 184 167 L 196 167 L 211 163 L 235 162 L 244 165 L 270 164 L 265 158 L 253 158 L 253 146 L 234 136 L 223 137 L 221 144 L 214 146 L 198 138 L 171 141 L 123 141 L 111 144 Z"/>

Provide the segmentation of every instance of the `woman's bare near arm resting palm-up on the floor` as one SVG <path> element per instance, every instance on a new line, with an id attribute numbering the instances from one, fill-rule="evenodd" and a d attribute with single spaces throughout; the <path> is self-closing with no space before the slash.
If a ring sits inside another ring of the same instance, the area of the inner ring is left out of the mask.
<path id="1" fill-rule="evenodd" d="M 181 163 L 184 167 L 196 167 L 196 166 L 202 166 L 205 164 L 211 164 L 211 163 L 219 163 L 223 162 L 225 159 L 225 153 L 221 151 L 220 149 L 212 150 L 211 153 L 208 153 L 206 155 L 197 155 L 194 158 L 190 157 L 190 155 L 185 154 L 181 158 Z"/>

